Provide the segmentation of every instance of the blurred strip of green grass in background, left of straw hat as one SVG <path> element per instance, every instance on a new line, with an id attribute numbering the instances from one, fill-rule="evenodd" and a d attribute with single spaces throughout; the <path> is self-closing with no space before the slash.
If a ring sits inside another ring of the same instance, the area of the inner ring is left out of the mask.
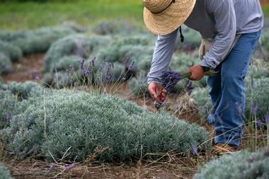
<path id="1" fill-rule="evenodd" d="M 139 0 L 76 0 L 68 2 L 0 3 L 0 29 L 28 29 L 57 25 L 66 21 L 91 25 L 108 19 L 128 19 L 143 23 Z"/>

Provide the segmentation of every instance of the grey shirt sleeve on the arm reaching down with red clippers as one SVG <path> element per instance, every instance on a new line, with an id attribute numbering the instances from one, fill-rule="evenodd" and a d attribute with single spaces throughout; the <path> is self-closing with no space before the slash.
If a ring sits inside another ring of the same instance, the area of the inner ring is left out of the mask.
<path id="1" fill-rule="evenodd" d="M 151 68 L 147 75 L 147 83 L 160 83 L 161 75 L 168 70 L 173 51 L 176 46 L 178 29 L 168 35 L 159 35 L 156 40 Z"/>

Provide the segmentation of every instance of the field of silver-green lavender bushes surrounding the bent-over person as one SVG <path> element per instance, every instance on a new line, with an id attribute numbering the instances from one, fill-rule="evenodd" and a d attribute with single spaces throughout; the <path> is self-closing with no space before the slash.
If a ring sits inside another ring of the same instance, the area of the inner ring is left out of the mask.
<path id="1" fill-rule="evenodd" d="M 268 32 L 265 27 L 245 79 L 244 151 L 216 158 L 210 155 L 211 131 L 184 118 L 185 113 L 198 114 L 201 124 L 210 115 L 206 77 L 188 88 L 188 80 L 173 88 L 168 100 L 180 96 L 185 103 L 164 104 L 160 112 L 147 108 L 146 76 L 156 36 L 139 25 L 103 21 L 91 28 L 64 24 L 1 31 L 1 78 L 14 73 L 28 54 L 45 57 L 30 81 L 0 82 L 0 178 L 75 178 L 72 171 L 89 163 L 132 166 L 143 161 L 147 166 L 149 161 L 178 162 L 175 158 L 195 166 L 188 178 L 269 178 Z M 183 34 L 185 42 L 176 42 L 171 71 L 185 72 L 200 61 L 200 34 L 186 27 Z M 42 161 L 47 167 L 18 174 L 19 164 L 13 163 L 23 161 Z M 186 178 L 184 171 L 178 173 Z"/>

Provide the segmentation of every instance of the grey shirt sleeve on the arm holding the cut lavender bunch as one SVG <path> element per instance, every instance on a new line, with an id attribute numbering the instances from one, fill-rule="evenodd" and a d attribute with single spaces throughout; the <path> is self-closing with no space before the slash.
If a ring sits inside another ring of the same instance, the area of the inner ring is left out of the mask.
<path id="1" fill-rule="evenodd" d="M 236 36 L 236 15 L 233 0 L 208 1 L 207 11 L 212 13 L 217 35 L 212 46 L 200 62 L 201 66 L 216 68 L 229 53 Z"/>

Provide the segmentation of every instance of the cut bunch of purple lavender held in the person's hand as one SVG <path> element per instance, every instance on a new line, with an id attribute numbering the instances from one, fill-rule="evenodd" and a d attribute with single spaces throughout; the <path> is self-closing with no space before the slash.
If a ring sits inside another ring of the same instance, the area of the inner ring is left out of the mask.
<path id="1" fill-rule="evenodd" d="M 205 76 L 214 76 L 218 74 L 219 71 L 214 71 L 213 69 L 210 69 L 210 71 L 205 72 Z M 163 74 L 161 75 L 161 86 L 164 86 L 166 88 L 167 93 L 170 93 L 173 87 L 176 86 L 176 83 L 183 79 L 190 79 L 191 73 L 190 72 L 185 72 L 185 73 L 180 73 L 178 71 L 164 71 Z M 190 88 L 192 85 L 192 82 L 189 80 L 185 84 L 185 88 Z M 161 109 L 161 106 L 163 105 L 163 102 L 154 102 L 155 108 L 157 111 Z"/>

